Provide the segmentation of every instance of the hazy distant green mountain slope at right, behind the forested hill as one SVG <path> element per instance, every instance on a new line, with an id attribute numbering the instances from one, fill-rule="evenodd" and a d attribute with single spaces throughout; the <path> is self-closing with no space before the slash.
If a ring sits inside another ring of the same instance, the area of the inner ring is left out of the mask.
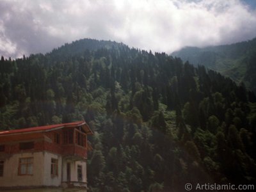
<path id="1" fill-rule="evenodd" d="M 256 38 L 231 45 L 185 47 L 172 56 L 216 70 L 256 93 Z"/>

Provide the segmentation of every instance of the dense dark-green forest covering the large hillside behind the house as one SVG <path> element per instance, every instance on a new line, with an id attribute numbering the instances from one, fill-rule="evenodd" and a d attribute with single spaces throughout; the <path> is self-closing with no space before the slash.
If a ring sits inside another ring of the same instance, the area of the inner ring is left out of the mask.
<path id="1" fill-rule="evenodd" d="M 256 97 L 164 52 L 84 39 L 0 61 L 0 129 L 86 120 L 90 191 L 256 183 Z"/>

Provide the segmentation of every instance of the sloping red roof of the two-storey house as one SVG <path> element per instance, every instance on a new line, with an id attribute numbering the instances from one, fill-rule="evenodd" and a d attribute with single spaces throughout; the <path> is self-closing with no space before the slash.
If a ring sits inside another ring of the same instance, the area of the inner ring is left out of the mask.
<path id="1" fill-rule="evenodd" d="M 46 125 L 46 126 L 40 126 L 40 127 L 30 127 L 25 129 L 14 129 L 14 130 L 8 130 L 8 131 L 1 131 L 0 136 L 6 135 L 6 134 L 18 134 L 23 132 L 34 132 L 34 131 L 50 131 L 51 129 L 58 129 L 63 127 L 77 127 L 80 125 L 86 124 L 84 121 L 79 122 L 73 122 L 68 124 L 56 124 L 56 125 Z M 88 128 L 90 130 L 90 128 Z"/>

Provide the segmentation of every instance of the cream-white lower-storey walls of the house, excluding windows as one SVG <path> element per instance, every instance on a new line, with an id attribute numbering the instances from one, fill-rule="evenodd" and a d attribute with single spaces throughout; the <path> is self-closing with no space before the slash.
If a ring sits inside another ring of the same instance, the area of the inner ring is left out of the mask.
<path id="1" fill-rule="evenodd" d="M 22 157 L 33 157 L 33 175 L 18 175 L 19 158 Z M 51 158 L 58 159 L 58 176 L 51 175 Z M 83 170 L 83 182 L 87 182 L 85 160 L 68 161 L 50 152 L 26 152 L 13 154 L 9 158 L 4 159 L 4 175 L 0 177 L 0 187 L 61 186 L 61 180 L 63 180 L 63 182 L 67 181 L 68 162 L 70 163 L 70 181 L 78 181 L 77 165 L 81 165 Z"/>

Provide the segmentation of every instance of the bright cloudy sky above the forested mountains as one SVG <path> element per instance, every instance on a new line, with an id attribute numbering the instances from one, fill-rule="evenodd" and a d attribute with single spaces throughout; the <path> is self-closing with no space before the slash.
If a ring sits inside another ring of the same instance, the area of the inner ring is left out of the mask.
<path id="1" fill-rule="evenodd" d="M 51 52 L 81 38 L 171 53 L 256 37 L 256 0 L 0 0 L 0 55 Z"/>

